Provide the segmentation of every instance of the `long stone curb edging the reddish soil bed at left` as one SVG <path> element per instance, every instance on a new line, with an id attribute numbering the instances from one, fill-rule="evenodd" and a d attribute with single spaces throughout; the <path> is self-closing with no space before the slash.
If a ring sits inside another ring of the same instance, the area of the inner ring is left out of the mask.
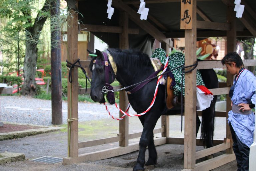
<path id="1" fill-rule="evenodd" d="M 39 128 L 39 129 L 28 129 L 24 131 L 15 131 L 15 132 L 7 132 L 7 133 L 0 133 L 0 141 L 14 139 L 14 138 L 22 138 L 31 135 L 37 135 L 47 132 L 58 131 L 63 127 L 49 127 L 49 128 Z"/>

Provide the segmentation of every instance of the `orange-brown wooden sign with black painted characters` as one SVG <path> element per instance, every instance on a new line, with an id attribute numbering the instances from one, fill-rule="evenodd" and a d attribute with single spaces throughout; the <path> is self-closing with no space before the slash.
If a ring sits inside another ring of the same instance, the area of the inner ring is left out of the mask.
<path id="1" fill-rule="evenodd" d="M 180 29 L 192 29 L 193 0 L 181 0 Z"/>

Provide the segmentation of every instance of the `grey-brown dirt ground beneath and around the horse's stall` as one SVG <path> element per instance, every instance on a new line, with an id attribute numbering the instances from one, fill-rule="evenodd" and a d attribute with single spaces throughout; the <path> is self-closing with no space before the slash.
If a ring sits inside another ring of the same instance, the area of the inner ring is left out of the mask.
<path id="1" fill-rule="evenodd" d="M 181 137 L 184 132 L 180 132 L 180 116 L 170 117 L 170 136 Z M 225 119 L 216 118 L 215 138 L 220 139 L 225 135 L 223 127 Z M 118 122 L 111 119 L 102 119 L 98 121 L 88 121 L 79 123 L 79 141 L 88 141 L 92 139 L 115 136 L 118 133 Z M 161 127 L 158 122 L 156 128 Z M 142 126 L 137 118 L 129 118 L 129 132 L 140 132 Z M 224 135 L 223 135 L 224 134 Z M 159 136 L 159 135 L 156 135 Z M 130 142 L 138 141 L 134 139 Z M 83 148 L 79 154 L 94 152 L 107 148 L 117 147 L 118 143 Z M 183 169 L 183 145 L 161 145 L 156 147 L 158 152 L 158 167 L 154 171 L 180 171 Z M 196 150 L 202 150 L 203 147 L 197 147 Z M 82 162 L 69 166 L 58 164 L 43 164 L 29 159 L 42 156 L 67 157 L 67 132 L 56 131 L 51 133 L 39 134 L 25 138 L 0 141 L 0 152 L 24 153 L 27 161 L 14 162 L 0 166 L 1 171 L 131 171 L 135 165 L 138 151 L 126 155 L 113 157 L 110 159 L 94 162 Z M 216 155 L 223 154 L 219 152 Z M 215 155 L 215 156 L 216 156 Z M 148 154 L 146 153 L 146 159 Z M 203 160 L 197 160 L 201 162 Z M 213 171 L 234 171 L 236 162 L 233 161 L 225 166 L 214 169 Z"/>

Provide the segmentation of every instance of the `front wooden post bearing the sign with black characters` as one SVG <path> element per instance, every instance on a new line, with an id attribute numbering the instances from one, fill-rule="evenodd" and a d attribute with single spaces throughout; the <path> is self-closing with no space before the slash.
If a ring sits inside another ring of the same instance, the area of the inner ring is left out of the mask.
<path id="1" fill-rule="evenodd" d="M 183 9 L 181 14 L 188 12 L 184 15 L 185 17 L 190 16 L 191 19 L 188 20 L 189 18 L 187 18 L 186 22 L 189 21 L 192 26 L 191 29 L 185 27 L 185 66 L 196 63 L 196 0 L 190 2 L 191 4 L 184 4 L 181 1 L 181 7 L 183 7 L 181 8 Z M 181 17 L 181 20 L 183 17 Z M 184 169 L 193 169 L 196 164 L 196 70 L 185 74 L 184 115 Z"/>

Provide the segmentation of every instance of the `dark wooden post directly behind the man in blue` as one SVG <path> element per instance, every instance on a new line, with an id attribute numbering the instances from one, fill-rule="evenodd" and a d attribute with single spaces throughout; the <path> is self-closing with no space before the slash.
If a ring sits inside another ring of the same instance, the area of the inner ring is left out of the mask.
<path id="1" fill-rule="evenodd" d="M 227 53 L 229 52 L 235 52 L 236 51 L 236 17 L 235 17 L 235 12 L 234 12 L 234 7 L 233 6 L 228 6 L 227 7 L 227 22 L 231 24 L 231 30 L 227 31 Z M 231 87 L 233 85 L 233 80 L 234 77 L 230 73 L 227 72 L 227 87 Z M 226 95 L 227 99 L 227 107 L 226 107 L 226 117 L 228 118 L 228 112 L 232 110 L 230 104 L 231 104 L 231 99 L 229 95 Z M 232 149 L 232 136 L 230 132 L 230 128 L 228 125 L 228 122 L 226 122 L 226 138 L 231 140 L 231 147 L 226 150 L 226 153 L 233 153 Z"/>

